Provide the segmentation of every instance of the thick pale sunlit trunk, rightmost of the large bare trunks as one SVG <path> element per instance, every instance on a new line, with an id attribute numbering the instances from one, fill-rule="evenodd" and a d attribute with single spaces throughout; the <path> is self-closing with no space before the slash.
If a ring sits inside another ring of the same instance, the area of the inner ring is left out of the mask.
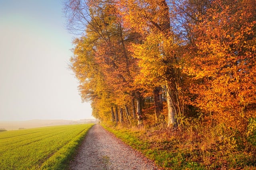
<path id="1" fill-rule="evenodd" d="M 167 126 L 170 127 L 176 127 L 177 126 L 177 120 L 175 118 L 176 115 L 176 109 L 174 106 L 175 103 L 175 96 L 174 96 L 173 90 L 170 88 L 169 84 L 167 83 L 166 86 L 166 98 L 167 98 L 167 107 L 168 107 L 168 124 Z"/>

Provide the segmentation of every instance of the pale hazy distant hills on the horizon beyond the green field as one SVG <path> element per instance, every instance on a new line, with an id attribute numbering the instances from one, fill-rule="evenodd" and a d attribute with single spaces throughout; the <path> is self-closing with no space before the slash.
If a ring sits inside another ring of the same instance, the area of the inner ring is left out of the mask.
<path id="1" fill-rule="evenodd" d="M 0 121 L 0 129 L 18 130 L 29 129 L 34 127 L 55 126 L 55 125 L 72 125 L 83 123 L 98 123 L 97 119 L 80 119 L 80 120 L 28 120 L 28 121 Z"/>

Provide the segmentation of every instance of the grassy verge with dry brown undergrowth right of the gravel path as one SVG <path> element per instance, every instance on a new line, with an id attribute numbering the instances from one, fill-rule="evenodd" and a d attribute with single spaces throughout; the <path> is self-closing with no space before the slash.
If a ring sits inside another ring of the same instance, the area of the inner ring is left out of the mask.
<path id="1" fill-rule="evenodd" d="M 169 130 L 138 129 L 124 125 L 104 128 L 166 170 L 256 169 L 256 147 L 232 135 L 222 137 L 220 127 L 198 126 Z"/>

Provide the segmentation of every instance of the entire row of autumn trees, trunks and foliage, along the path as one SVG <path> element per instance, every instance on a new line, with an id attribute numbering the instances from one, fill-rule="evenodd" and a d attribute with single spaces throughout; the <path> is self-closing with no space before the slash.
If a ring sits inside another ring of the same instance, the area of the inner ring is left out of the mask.
<path id="1" fill-rule="evenodd" d="M 105 122 L 182 128 L 256 117 L 255 0 L 66 0 L 70 68 Z"/>

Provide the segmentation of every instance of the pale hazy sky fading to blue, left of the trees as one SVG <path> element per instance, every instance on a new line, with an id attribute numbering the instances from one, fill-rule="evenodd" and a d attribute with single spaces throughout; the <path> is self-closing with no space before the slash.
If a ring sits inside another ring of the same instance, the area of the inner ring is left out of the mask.
<path id="1" fill-rule="evenodd" d="M 0 121 L 90 119 L 61 0 L 0 0 Z"/>

